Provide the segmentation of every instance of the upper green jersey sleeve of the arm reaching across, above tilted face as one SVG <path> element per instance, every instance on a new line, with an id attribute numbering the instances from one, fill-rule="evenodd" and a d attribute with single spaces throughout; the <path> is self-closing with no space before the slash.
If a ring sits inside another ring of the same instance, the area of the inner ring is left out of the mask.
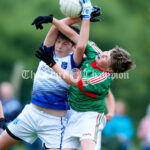
<path id="1" fill-rule="evenodd" d="M 87 59 L 94 59 L 98 54 L 101 54 L 101 52 L 102 50 L 98 48 L 94 42 L 88 41 L 85 49 L 85 55 L 87 56 Z"/>

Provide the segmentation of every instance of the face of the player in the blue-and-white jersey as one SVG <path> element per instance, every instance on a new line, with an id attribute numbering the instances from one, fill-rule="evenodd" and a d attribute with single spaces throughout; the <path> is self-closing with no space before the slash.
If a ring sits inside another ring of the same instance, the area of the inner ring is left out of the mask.
<path id="1" fill-rule="evenodd" d="M 55 53 L 60 57 L 67 56 L 72 51 L 72 43 L 69 40 L 57 38 L 55 42 Z"/>

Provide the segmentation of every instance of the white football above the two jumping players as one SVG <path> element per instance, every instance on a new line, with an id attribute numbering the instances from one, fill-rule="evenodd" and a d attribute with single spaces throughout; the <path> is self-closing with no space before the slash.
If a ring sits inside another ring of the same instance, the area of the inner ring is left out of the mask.
<path id="1" fill-rule="evenodd" d="M 81 14 L 82 7 L 80 0 L 60 0 L 59 6 L 61 12 L 66 17 L 76 18 Z"/>

